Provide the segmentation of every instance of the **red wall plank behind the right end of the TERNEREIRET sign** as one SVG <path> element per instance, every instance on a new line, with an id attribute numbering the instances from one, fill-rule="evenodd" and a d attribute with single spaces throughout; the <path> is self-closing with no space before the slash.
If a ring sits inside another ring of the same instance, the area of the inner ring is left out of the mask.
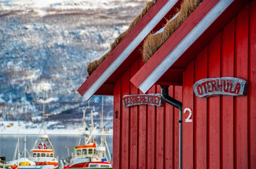
<path id="1" fill-rule="evenodd" d="M 161 93 L 161 87 L 157 85 L 157 93 Z M 163 169 L 163 115 L 164 107 L 157 107 L 156 110 L 156 169 Z"/>

